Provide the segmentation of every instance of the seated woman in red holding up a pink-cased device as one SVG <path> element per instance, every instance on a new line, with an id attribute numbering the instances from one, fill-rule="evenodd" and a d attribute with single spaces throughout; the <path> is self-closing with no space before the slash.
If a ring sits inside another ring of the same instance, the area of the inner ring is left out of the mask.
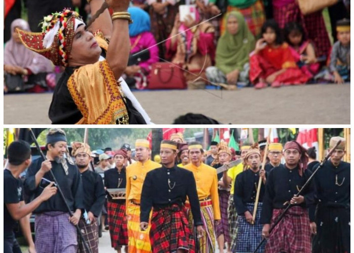
<path id="1" fill-rule="evenodd" d="M 207 83 L 205 69 L 212 66 L 215 58 L 214 27 L 209 22 L 200 21 L 187 15 L 181 22 L 177 14 L 171 34 L 166 40 L 166 58 L 181 65 L 185 71 L 189 89 L 204 88 Z M 198 79 L 198 80 L 196 80 Z"/>

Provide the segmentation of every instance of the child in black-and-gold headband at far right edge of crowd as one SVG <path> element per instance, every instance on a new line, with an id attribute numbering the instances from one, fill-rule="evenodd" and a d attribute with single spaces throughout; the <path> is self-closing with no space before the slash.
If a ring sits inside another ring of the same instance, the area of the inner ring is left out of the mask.
<path id="1" fill-rule="evenodd" d="M 337 22 L 338 41 L 333 45 L 329 69 L 336 83 L 350 80 L 350 20 Z"/>

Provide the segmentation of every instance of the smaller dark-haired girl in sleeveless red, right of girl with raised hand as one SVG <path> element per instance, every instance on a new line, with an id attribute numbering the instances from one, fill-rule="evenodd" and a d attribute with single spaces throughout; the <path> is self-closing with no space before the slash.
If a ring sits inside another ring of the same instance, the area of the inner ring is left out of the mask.
<path id="1" fill-rule="evenodd" d="M 284 28 L 285 40 L 297 66 L 309 78 L 313 78 L 320 70 L 315 47 L 305 39 L 303 28 L 296 22 L 290 22 Z"/>

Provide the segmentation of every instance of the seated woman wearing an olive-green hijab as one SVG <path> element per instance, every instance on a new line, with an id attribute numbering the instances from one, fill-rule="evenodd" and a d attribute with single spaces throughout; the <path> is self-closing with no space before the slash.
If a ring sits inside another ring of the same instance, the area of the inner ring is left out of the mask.
<path id="1" fill-rule="evenodd" d="M 240 12 L 230 12 L 226 19 L 227 29 L 216 47 L 216 65 L 206 69 L 206 76 L 210 82 L 234 90 L 237 81 L 249 82 L 248 55 L 255 47 L 255 40 Z"/>

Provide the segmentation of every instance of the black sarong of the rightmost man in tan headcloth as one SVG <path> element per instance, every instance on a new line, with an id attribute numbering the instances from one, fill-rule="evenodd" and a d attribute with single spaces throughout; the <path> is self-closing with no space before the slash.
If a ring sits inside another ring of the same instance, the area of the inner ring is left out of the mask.
<path id="1" fill-rule="evenodd" d="M 316 224 L 313 253 L 350 252 L 350 209 L 320 207 L 317 209 Z"/>

